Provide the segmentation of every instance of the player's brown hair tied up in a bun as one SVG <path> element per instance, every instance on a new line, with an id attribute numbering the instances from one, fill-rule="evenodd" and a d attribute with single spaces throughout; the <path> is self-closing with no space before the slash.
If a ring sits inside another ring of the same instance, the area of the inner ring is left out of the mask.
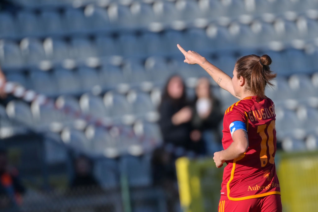
<path id="1" fill-rule="evenodd" d="M 246 55 L 236 62 L 238 78 L 244 77 L 249 89 L 258 97 L 265 96 L 267 83 L 273 86 L 270 81 L 276 77 L 276 74 L 273 74 L 269 68 L 271 63 L 272 59 L 266 54 L 262 57 L 255 54 Z"/>

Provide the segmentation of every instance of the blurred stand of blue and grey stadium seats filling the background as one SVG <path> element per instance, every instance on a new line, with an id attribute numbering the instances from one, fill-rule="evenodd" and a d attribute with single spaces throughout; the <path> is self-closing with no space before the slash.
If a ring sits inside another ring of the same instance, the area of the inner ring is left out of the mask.
<path id="1" fill-rule="evenodd" d="M 268 54 L 273 60 L 271 69 L 278 75 L 275 87 L 267 87 L 266 95 L 276 105 L 279 147 L 285 151 L 318 149 L 316 0 L 7 2 L 9 6 L 4 8 L 9 9 L 0 10 L 3 72 L 8 81 L 52 98 L 55 105 L 10 100 L 0 107 L 0 136 L 10 139 L 40 133 L 45 150 L 39 157 L 47 157 L 49 165 L 57 161 L 62 167 L 57 175 L 64 177 L 71 175 L 69 151 L 90 155 L 94 175 L 103 188 L 116 190 L 125 185 L 120 182 L 122 175 L 129 186 L 144 188 L 133 190 L 131 201 L 147 202 L 149 198 L 150 203 L 132 205 L 132 211 L 165 210 L 156 206 L 164 201 L 161 190 L 149 192 L 149 154 L 162 143 L 156 107 L 165 80 L 171 74 L 181 74 L 191 96 L 196 79 L 208 77 L 199 67 L 183 64 L 177 43 L 202 53 L 229 75 L 240 56 Z M 212 85 L 224 110 L 236 101 Z M 56 107 L 123 126 L 128 133 L 120 135 L 116 127 L 101 130 L 76 113 L 62 113 Z M 34 145 L 30 142 L 30 148 Z M 19 168 L 27 170 L 22 164 Z M 47 170 L 41 176 L 48 181 Z M 24 179 L 32 175 L 21 172 Z M 38 208 L 47 207 L 53 204 L 52 199 L 62 199 L 63 195 L 47 194 L 44 199 L 35 195 L 29 202 L 43 201 Z M 113 205 L 107 206 L 109 211 L 122 211 L 120 193 L 105 195 L 91 198 L 95 198 L 95 205 L 106 198 L 103 204 Z M 38 210 L 32 205 L 25 207 L 26 211 Z"/>

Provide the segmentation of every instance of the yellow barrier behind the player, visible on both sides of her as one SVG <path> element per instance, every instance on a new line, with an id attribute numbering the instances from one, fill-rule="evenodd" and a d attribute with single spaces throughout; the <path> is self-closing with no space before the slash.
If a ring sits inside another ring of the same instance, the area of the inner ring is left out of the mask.
<path id="1" fill-rule="evenodd" d="M 277 153 L 284 212 L 318 211 L 318 152 Z M 223 168 L 212 158 L 176 161 L 181 207 L 184 212 L 217 211 Z"/>

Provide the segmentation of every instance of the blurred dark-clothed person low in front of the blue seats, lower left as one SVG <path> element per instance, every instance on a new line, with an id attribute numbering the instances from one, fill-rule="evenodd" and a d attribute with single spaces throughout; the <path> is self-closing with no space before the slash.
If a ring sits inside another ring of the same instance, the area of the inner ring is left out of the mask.
<path id="1" fill-rule="evenodd" d="M 92 162 L 84 155 L 74 161 L 75 176 L 71 188 L 98 187 L 99 183 L 92 174 Z"/>

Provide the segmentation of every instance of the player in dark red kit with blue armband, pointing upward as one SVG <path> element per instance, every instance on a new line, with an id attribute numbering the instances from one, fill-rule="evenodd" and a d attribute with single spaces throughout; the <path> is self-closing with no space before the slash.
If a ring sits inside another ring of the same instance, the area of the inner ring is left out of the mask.
<path id="1" fill-rule="evenodd" d="M 218 85 L 240 99 L 223 119 L 224 150 L 214 153 L 218 168 L 224 168 L 218 211 L 281 212 L 280 184 L 276 175 L 276 130 L 274 103 L 265 96 L 266 84 L 275 78 L 268 55 L 240 58 L 233 77 L 225 74 L 195 51 L 185 51 L 185 63 L 198 64 Z"/>

